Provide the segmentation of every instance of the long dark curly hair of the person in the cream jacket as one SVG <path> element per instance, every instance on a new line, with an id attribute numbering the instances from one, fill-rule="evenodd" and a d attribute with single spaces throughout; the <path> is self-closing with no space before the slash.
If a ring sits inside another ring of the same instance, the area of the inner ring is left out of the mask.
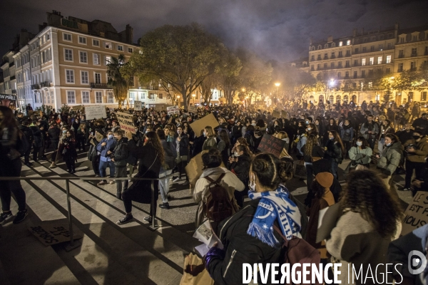
<path id="1" fill-rule="evenodd" d="M 402 218 L 399 202 L 371 170 L 350 172 L 340 204 L 345 211 L 360 213 L 381 237 L 394 234 Z"/>

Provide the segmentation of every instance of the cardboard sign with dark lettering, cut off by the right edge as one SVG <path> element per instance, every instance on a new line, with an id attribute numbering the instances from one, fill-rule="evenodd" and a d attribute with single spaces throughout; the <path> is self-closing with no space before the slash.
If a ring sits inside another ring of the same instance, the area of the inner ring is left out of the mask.
<path id="1" fill-rule="evenodd" d="M 409 234 L 414 229 L 428 222 L 428 192 L 418 191 L 404 212 L 402 220 L 402 235 Z"/>

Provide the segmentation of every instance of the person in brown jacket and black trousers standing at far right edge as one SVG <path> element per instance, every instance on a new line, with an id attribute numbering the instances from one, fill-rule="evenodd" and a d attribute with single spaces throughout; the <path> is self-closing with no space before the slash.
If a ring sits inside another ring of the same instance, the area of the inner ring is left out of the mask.
<path id="1" fill-rule="evenodd" d="M 404 178 L 404 191 L 410 190 L 413 170 L 416 180 L 423 180 L 427 172 L 425 171 L 424 162 L 428 155 L 428 139 L 420 130 L 414 130 L 413 139 L 410 143 L 404 144 L 406 151 L 406 177 Z"/>

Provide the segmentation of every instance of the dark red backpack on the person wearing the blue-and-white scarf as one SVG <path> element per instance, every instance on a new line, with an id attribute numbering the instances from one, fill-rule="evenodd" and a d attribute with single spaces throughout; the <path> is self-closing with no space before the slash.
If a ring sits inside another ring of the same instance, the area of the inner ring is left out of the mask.
<path id="1" fill-rule="evenodd" d="M 292 237 L 292 239 L 288 240 L 280 229 L 278 229 L 277 226 L 273 226 L 273 229 L 275 229 L 275 232 L 280 234 L 284 242 L 282 243 L 282 250 L 281 250 L 281 257 L 280 257 L 280 264 L 290 264 L 290 268 L 293 264 L 304 264 L 304 263 L 310 263 L 310 267 L 316 266 L 315 264 L 321 263 L 321 256 L 320 251 L 318 249 L 315 249 L 315 247 L 312 247 L 308 242 L 305 241 L 305 239 L 300 239 L 299 237 Z M 318 265 L 320 266 L 320 265 Z M 308 268 L 308 274 L 306 276 L 307 280 L 312 280 L 311 277 L 311 269 Z M 296 270 L 296 275 L 298 274 L 299 270 Z M 303 269 L 302 266 L 300 266 L 300 275 L 303 279 Z M 290 276 L 291 279 L 291 276 Z M 317 279 L 315 278 L 315 283 L 311 284 L 322 284 L 317 282 Z"/>

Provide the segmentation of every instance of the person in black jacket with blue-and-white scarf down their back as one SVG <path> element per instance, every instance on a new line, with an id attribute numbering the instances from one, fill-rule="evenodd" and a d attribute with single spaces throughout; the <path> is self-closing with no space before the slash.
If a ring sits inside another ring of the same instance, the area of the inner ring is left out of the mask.
<path id="1" fill-rule="evenodd" d="M 287 180 L 286 173 L 285 162 L 274 155 L 260 153 L 254 157 L 248 193 L 251 201 L 220 227 L 218 237 L 223 249 L 212 247 L 204 257 L 205 268 L 215 284 L 242 284 L 243 263 L 265 266 L 278 262 L 282 253 L 278 232 L 287 239 L 300 236 L 299 208 L 281 185 L 282 180 Z M 267 284 L 272 280 L 270 272 Z"/>

